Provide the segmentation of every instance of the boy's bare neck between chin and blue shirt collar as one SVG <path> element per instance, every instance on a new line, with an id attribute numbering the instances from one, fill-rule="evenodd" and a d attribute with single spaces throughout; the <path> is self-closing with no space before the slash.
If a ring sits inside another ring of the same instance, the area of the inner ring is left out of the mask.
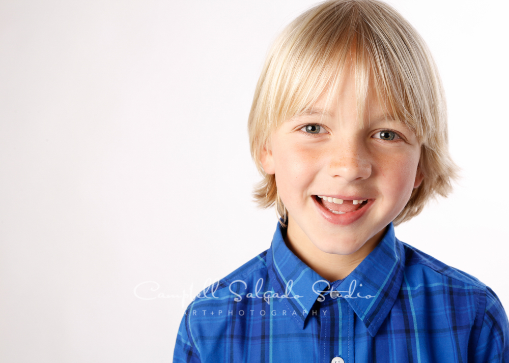
<path id="1" fill-rule="evenodd" d="M 386 228 L 368 239 L 357 251 L 349 255 L 327 253 L 316 247 L 300 228 L 290 228 L 296 223 L 289 218 L 287 233 L 283 234 L 288 248 L 306 265 L 324 279 L 333 282 L 347 277 L 378 245 Z M 341 243 L 341 240 L 338 240 Z"/>

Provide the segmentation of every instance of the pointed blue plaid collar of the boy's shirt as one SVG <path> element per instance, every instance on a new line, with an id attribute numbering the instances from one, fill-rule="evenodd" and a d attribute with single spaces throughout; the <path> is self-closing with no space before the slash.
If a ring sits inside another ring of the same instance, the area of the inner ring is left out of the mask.
<path id="1" fill-rule="evenodd" d="M 341 293 L 352 310 L 374 337 L 392 308 L 403 279 L 405 253 L 395 238 L 392 223 L 380 243 L 345 279 L 330 283 L 302 262 L 286 246 L 278 223 L 272 245 L 267 253 L 269 279 L 274 292 L 293 310 L 292 315 L 304 328 L 307 312 L 312 310 L 319 292 L 335 290 Z M 322 295 L 323 296 L 323 295 Z"/>

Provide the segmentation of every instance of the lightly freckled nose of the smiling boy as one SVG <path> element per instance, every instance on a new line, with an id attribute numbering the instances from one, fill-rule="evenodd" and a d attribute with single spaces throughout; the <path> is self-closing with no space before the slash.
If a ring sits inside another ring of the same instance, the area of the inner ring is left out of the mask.
<path id="1" fill-rule="evenodd" d="M 332 177 L 341 177 L 349 183 L 371 176 L 369 153 L 361 145 L 342 143 L 331 150 L 330 155 L 328 171 Z"/>

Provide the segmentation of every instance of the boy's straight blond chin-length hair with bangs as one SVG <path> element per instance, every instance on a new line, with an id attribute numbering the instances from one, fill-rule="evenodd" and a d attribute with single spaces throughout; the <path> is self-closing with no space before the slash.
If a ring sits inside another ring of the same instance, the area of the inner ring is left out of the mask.
<path id="1" fill-rule="evenodd" d="M 418 215 L 431 197 L 445 197 L 452 189 L 458 167 L 448 152 L 444 91 L 425 42 L 387 4 L 332 0 L 301 14 L 276 39 L 249 113 L 251 156 L 263 176 L 253 196 L 264 208 L 275 203 L 283 220 L 288 211 L 277 193 L 275 175 L 261 165 L 263 147 L 282 122 L 312 108 L 324 93 L 330 99 L 352 54 L 359 119 L 373 87 L 392 117 L 404 122 L 421 143 L 424 178 L 393 223 Z"/>

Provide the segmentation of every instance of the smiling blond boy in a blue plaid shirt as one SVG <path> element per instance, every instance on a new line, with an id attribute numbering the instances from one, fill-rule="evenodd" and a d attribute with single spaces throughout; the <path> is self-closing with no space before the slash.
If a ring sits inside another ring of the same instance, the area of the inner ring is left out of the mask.
<path id="1" fill-rule="evenodd" d="M 201 292 L 174 362 L 502 362 L 486 285 L 399 241 L 450 191 L 445 100 L 414 29 L 373 0 L 322 3 L 273 45 L 249 115 L 281 219 L 271 247 Z"/>

